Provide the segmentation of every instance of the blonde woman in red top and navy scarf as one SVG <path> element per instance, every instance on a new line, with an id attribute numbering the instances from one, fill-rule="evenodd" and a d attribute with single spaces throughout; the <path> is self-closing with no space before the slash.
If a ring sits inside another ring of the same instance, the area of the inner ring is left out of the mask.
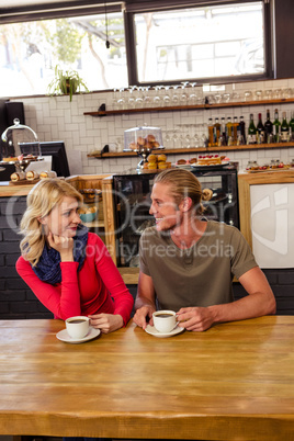
<path id="1" fill-rule="evenodd" d="M 86 315 L 106 333 L 127 324 L 134 299 L 100 237 L 81 224 L 81 202 L 58 179 L 30 191 L 16 270 L 55 318 Z"/>

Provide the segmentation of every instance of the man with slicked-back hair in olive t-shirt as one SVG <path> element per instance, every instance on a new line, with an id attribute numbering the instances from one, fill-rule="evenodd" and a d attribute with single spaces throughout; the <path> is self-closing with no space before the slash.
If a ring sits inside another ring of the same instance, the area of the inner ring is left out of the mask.
<path id="1" fill-rule="evenodd" d="M 193 173 L 168 169 L 155 179 L 150 214 L 156 226 L 140 238 L 134 321 L 152 325 L 156 299 L 188 330 L 274 314 L 272 290 L 241 233 L 203 219 L 202 189 Z M 236 275 L 249 295 L 234 301 Z"/>

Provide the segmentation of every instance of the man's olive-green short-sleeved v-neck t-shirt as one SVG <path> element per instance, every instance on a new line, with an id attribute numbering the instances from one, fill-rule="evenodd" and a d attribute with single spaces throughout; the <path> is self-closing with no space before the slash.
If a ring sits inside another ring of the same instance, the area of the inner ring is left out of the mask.
<path id="1" fill-rule="evenodd" d="M 203 236 L 189 249 L 178 248 L 170 233 L 147 228 L 139 242 L 140 271 L 152 278 L 160 309 L 211 306 L 234 301 L 234 275 L 257 267 L 241 233 L 207 222 Z"/>

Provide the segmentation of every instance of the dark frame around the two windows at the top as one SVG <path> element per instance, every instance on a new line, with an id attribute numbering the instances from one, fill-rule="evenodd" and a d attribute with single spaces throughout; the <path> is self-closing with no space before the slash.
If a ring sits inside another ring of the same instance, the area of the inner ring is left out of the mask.
<path id="1" fill-rule="evenodd" d="M 48 0 L 49 1 L 49 0 Z M 241 0 L 242 3 L 257 2 L 260 0 Z M 184 81 L 195 81 L 197 84 L 225 84 L 237 82 L 259 81 L 274 78 L 274 10 L 272 0 L 262 0 L 263 2 L 263 35 L 264 35 L 264 74 L 255 74 L 236 77 L 207 77 L 207 78 L 190 78 Z M 38 5 L 27 5 L 13 9 L 0 8 L 0 24 L 13 24 L 19 22 L 30 22 L 35 20 L 48 20 L 58 18 L 70 18 L 75 15 L 88 15 L 94 13 L 117 12 L 123 10 L 124 27 L 125 27 L 125 48 L 126 48 L 126 67 L 128 86 L 137 84 L 144 86 L 146 82 L 138 80 L 137 71 L 137 57 L 136 57 L 136 41 L 135 41 L 135 14 L 163 11 L 163 10 L 178 10 L 183 8 L 202 7 L 202 5 L 225 5 L 225 4 L 239 4 L 238 0 L 126 0 L 108 2 L 100 0 L 80 0 L 80 1 L 66 1 L 60 3 L 46 3 Z M 154 81 L 148 82 L 148 86 L 155 87 L 158 84 L 177 84 L 181 79 L 172 81 Z M 99 89 L 98 91 L 103 91 Z"/>

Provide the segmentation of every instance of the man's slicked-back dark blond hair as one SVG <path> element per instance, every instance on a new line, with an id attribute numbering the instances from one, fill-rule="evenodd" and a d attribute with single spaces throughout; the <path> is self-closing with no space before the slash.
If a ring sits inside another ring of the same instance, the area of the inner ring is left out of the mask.
<path id="1" fill-rule="evenodd" d="M 154 183 L 169 184 L 170 195 L 174 197 L 177 205 L 179 205 L 184 197 L 190 197 L 193 203 L 192 210 L 194 210 L 197 215 L 203 214 L 204 207 L 201 201 L 205 200 L 205 197 L 203 196 L 200 181 L 191 171 L 184 169 L 167 169 L 157 174 Z"/>

